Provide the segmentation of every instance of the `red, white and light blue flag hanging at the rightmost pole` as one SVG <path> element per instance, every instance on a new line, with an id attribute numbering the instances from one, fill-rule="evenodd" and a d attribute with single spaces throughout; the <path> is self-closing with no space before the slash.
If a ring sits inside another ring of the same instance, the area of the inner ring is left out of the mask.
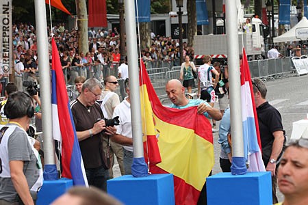
<path id="1" fill-rule="evenodd" d="M 251 72 L 244 48 L 240 72 L 244 154 L 249 163 L 248 172 L 266 172 L 261 156 L 261 139 L 257 111 L 255 109 L 253 84 L 251 83 Z"/>

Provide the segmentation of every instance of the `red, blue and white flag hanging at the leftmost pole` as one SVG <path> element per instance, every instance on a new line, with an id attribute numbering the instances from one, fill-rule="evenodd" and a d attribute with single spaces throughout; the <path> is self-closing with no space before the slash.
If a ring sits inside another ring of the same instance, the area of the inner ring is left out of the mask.
<path id="1" fill-rule="evenodd" d="M 62 176 L 73 179 L 74 185 L 88 186 L 84 162 L 82 161 L 75 131 L 75 124 L 68 104 L 60 55 L 54 39 L 52 39 L 52 52 L 51 102 L 53 112 L 53 138 L 62 143 Z"/>

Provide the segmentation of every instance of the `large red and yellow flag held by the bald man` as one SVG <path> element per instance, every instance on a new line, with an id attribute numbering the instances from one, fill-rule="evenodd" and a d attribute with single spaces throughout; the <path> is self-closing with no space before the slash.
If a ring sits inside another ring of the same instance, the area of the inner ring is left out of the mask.
<path id="1" fill-rule="evenodd" d="M 175 204 L 197 204 L 205 178 L 214 166 L 211 124 L 204 115 L 197 113 L 196 107 L 164 107 L 155 93 L 143 62 L 140 68 L 140 88 L 146 93 L 144 98 L 149 98 L 150 105 L 146 106 L 151 106 L 149 118 L 153 119 L 155 128 L 155 133 L 150 135 L 156 135 L 162 159 L 156 165 L 150 163 L 150 172 L 173 174 Z"/>

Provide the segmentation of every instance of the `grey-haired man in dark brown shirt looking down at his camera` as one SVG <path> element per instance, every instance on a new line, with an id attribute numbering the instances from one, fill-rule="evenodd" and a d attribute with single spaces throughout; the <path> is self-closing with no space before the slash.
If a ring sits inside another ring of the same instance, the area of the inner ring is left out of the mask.
<path id="1" fill-rule="evenodd" d="M 97 79 L 88 79 L 82 85 L 81 94 L 70 102 L 77 138 L 86 168 L 88 184 L 107 190 L 109 178 L 107 157 L 103 152 L 104 135 L 116 134 L 114 126 L 106 126 L 103 111 L 97 100 L 103 85 Z"/>

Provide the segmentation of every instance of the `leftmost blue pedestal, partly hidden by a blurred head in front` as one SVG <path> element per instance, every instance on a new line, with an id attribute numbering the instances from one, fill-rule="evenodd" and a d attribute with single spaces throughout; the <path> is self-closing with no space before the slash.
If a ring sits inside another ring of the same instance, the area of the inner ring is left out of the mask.
<path id="1" fill-rule="evenodd" d="M 59 180 L 44 180 L 42 188 L 38 192 L 37 205 L 51 204 L 57 197 L 73 187 L 73 180 L 60 178 Z"/>

